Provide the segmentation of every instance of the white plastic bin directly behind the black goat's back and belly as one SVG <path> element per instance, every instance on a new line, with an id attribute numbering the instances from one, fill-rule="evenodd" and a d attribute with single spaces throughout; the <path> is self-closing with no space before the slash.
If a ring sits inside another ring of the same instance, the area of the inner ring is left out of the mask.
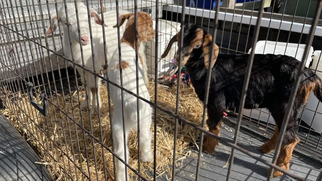
<path id="1" fill-rule="evenodd" d="M 287 45 L 287 47 L 286 47 L 286 45 Z M 301 61 L 303 58 L 305 46 L 306 46 L 305 44 L 293 44 L 293 43 L 286 44 L 283 42 L 258 41 L 256 43 L 255 54 L 275 54 L 275 55 L 281 54 L 281 55 L 287 55 L 290 57 L 294 57 L 295 59 Z M 265 48 L 265 50 L 264 50 L 264 48 Z M 285 51 L 285 49 L 286 49 L 286 51 Z M 250 51 L 251 51 L 251 49 L 249 49 L 248 54 L 250 53 Z M 310 63 L 312 60 L 312 58 L 311 58 L 312 54 L 313 54 L 313 47 L 310 48 L 310 52 L 309 52 L 308 58 L 305 63 L 306 67 L 310 66 Z M 321 62 L 321 64 L 322 64 L 322 62 Z M 311 97 L 312 96 L 310 96 L 310 98 Z M 316 98 L 314 95 L 313 95 L 313 97 Z M 309 98 L 309 103 L 310 103 L 310 98 Z M 251 111 L 250 109 L 244 109 L 243 115 L 250 117 L 250 111 Z M 259 119 L 260 121 L 265 121 L 265 122 L 268 120 L 269 123 L 275 124 L 273 117 L 271 115 L 269 115 L 269 113 L 270 112 L 268 111 L 268 109 L 265 109 L 265 108 L 252 109 L 251 118 L 256 119 L 256 120 Z M 312 116 L 312 118 L 313 118 L 313 116 Z"/>

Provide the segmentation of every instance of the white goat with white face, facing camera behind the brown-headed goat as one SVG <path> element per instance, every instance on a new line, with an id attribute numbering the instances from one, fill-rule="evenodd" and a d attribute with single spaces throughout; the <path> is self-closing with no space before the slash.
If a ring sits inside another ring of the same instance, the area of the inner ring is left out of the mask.
<path id="1" fill-rule="evenodd" d="M 83 63 L 86 69 L 91 71 L 99 72 L 99 70 L 105 65 L 104 59 L 104 46 L 103 46 L 103 32 L 102 32 L 102 20 L 98 13 L 91 9 L 89 10 L 89 14 L 94 20 L 91 20 L 91 31 L 92 31 L 92 40 L 93 40 L 93 50 L 91 51 L 91 44 L 90 44 L 90 36 L 89 36 L 89 23 L 88 23 L 88 13 L 87 7 L 82 2 L 77 2 L 78 8 L 78 17 L 79 17 L 79 26 L 77 23 L 77 16 L 76 16 L 76 8 L 75 3 L 67 3 L 67 13 L 68 13 L 68 24 L 67 25 L 67 18 L 66 18 L 66 11 L 65 7 L 60 7 L 59 11 L 56 13 L 52 13 L 51 15 L 51 26 L 48 27 L 47 35 L 50 35 L 53 31 L 56 30 L 58 27 L 58 20 L 61 22 L 63 27 L 63 50 L 64 54 L 67 58 L 72 59 L 76 64 L 82 65 L 81 53 L 80 53 L 80 43 L 82 44 L 82 52 L 83 52 Z M 120 10 L 120 14 L 129 13 L 126 10 Z M 105 40 L 106 40 L 106 56 L 107 61 L 111 59 L 113 51 L 118 46 L 118 37 L 117 37 L 117 29 L 113 28 L 112 25 L 116 24 L 116 10 L 108 11 L 104 13 L 104 23 L 105 23 Z M 69 32 L 68 32 L 69 27 Z M 80 31 L 80 39 L 79 39 L 79 31 Z M 120 27 L 120 36 L 122 37 L 124 32 L 124 26 Z M 70 35 L 70 36 L 69 36 Z M 139 51 L 143 52 L 144 49 L 140 49 Z M 92 59 L 92 55 L 94 55 L 94 61 Z M 145 58 L 145 57 L 143 57 Z M 143 59 L 143 63 L 146 60 Z M 144 65 L 145 71 L 147 70 L 146 65 Z M 76 66 L 78 72 L 81 75 L 81 82 L 83 85 L 84 78 L 83 78 L 83 69 L 79 66 Z M 145 80 L 147 79 L 147 73 L 145 73 Z M 98 93 L 98 103 L 96 101 L 96 90 L 95 90 L 95 78 L 89 72 L 85 73 L 86 83 L 87 83 L 87 95 L 88 100 L 82 103 L 81 108 L 87 109 L 88 104 L 90 108 L 97 109 L 97 104 L 99 104 L 99 108 L 101 107 L 100 101 L 100 93 L 99 89 L 97 90 Z M 99 88 L 101 81 L 99 78 L 96 78 L 96 85 Z M 88 104 L 87 104 L 88 101 Z M 98 108 L 98 109 L 99 109 Z"/>

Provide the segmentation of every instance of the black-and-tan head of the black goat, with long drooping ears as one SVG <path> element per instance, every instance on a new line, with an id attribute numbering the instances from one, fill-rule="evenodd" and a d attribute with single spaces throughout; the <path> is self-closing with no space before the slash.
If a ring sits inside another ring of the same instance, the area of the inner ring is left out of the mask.
<path id="1" fill-rule="evenodd" d="M 164 53 L 161 55 L 163 59 L 170 51 L 170 48 L 174 42 L 177 42 L 178 45 L 180 43 L 180 35 L 181 30 L 174 35 L 169 41 Z M 182 50 L 182 59 L 181 65 L 185 65 L 187 61 L 199 61 L 199 57 L 196 59 L 190 59 L 195 54 L 200 54 L 200 56 L 204 56 L 204 65 L 208 69 L 209 68 L 209 60 L 210 60 L 210 48 L 212 43 L 212 36 L 199 27 L 196 24 L 187 24 L 184 28 L 183 32 L 183 46 L 181 49 L 178 49 L 175 55 L 175 64 L 179 62 L 179 53 Z M 179 46 L 178 46 L 179 47 Z M 215 44 L 214 47 L 214 58 L 211 61 L 211 67 L 214 66 L 219 53 L 219 47 Z"/>

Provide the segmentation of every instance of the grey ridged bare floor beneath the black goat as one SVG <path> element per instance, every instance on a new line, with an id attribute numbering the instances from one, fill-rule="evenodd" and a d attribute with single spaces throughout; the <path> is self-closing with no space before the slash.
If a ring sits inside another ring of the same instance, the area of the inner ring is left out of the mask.
<path id="1" fill-rule="evenodd" d="M 221 129 L 221 136 L 233 139 L 235 134 L 235 125 L 230 121 L 224 120 L 224 126 Z M 267 139 L 256 136 L 244 129 L 240 130 L 239 146 L 248 150 L 253 155 L 261 157 L 267 161 L 271 161 L 274 152 L 264 154 L 259 150 Z M 192 154 L 189 158 L 184 159 L 180 166 L 176 168 L 175 180 L 177 181 L 194 181 L 198 151 L 191 150 Z M 224 167 L 231 154 L 231 147 L 220 144 L 216 148 L 214 154 L 203 153 L 201 157 L 199 181 L 226 181 L 228 172 L 228 165 Z M 321 172 L 321 162 L 308 159 L 300 154 L 293 154 L 290 162 L 290 172 L 296 174 L 307 181 L 316 181 Z M 255 159 L 243 154 L 240 151 L 235 152 L 234 166 L 232 168 L 232 181 L 266 181 L 267 171 L 269 167 L 265 164 L 256 161 Z M 166 180 L 166 176 L 163 177 Z M 271 181 L 292 181 L 294 179 L 283 176 L 281 178 L 274 178 Z"/>

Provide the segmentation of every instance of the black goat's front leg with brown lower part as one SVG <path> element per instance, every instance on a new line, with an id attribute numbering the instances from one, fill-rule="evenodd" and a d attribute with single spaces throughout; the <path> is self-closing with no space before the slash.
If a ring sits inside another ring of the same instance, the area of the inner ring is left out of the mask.
<path id="1" fill-rule="evenodd" d="M 207 125 L 209 127 L 209 131 L 217 136 L 220 135 L 220 122 L 224 117 L 223 110 L 223 108 L 214 108 L 212 105 L 208 106 L 209 119 L 207 120 Z M 216 138 L 207 135 L 204 138 L 202 150 L 207 153 L 213 153 L 218 143 L 219 141 Z"/>

